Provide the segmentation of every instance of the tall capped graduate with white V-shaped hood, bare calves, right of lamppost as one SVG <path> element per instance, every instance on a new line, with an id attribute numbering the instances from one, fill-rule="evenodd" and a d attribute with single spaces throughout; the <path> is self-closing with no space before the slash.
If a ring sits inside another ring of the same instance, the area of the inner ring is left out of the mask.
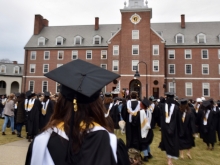
<path id="1" fill-rule="evenodd" d="M 161 142 L 159 148 L 166 152 L 168 165 L 179 157 L 179 107 L 175 105 L 174 93 L 167 92 L 166 103 L 161 107 Z"/>

